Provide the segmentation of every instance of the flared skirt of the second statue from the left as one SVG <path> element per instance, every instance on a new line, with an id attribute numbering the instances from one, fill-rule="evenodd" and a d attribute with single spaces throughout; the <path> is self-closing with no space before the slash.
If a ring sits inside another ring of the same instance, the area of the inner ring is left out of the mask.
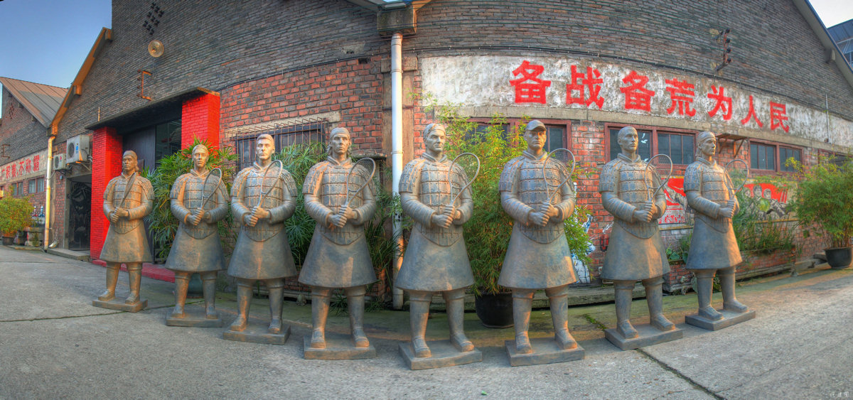
<path id="1" fill-rule="evenodd" d="M 178 272 L 208 272 L 225 269 L 225 258 L 219 234 L 196 239 L 178 227 L 175 241 L 171 244 L 165 268 Z"/>

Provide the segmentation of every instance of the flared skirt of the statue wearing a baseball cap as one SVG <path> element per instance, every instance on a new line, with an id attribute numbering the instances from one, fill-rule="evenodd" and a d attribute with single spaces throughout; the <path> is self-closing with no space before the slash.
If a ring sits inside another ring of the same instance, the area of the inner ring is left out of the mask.
<path id="1" fill-rule="evenodd" d="M 566 235 L 543 244 L 525 236 L 518 223 L 509 237 L 498 285 L 516 289 L 546 289 L 577 281 Z"/>

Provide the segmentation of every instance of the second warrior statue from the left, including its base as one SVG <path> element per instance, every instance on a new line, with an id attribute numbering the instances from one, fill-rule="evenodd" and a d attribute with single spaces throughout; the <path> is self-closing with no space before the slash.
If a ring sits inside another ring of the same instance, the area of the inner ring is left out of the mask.
<path id="1" fill-rule="evenodd" d="M 217 222 L 228 213 L 228 194 L 219 174 L 207 171 L 210 152 L 203 144 L 193 148 L 193 168 L 178 177 L 171 187 L 171 213 L 177 218 L 178 229 L 171 245 L 165 267 L 175 271 L 175 310 L 166 325 L 183 327 L 221 327 L 216 311 L 216 276 L 225 269 L 222 244 Z M 189 277 L 201 276 L 205 298 L 205 316 L 187 316 Z"/>

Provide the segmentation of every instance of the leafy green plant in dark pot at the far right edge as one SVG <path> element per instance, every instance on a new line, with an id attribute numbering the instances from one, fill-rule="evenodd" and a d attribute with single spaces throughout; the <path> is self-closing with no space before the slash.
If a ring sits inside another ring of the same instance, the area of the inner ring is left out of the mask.
<path id="1" fill-rule="evenodd" d="M 788 163 L 793 160 L 789 159 Z M 808 170 L 796 161 L 801 177 L 789 203 L 801 223 L 814 223 L 827 241 L 827 263 L 833 269 L 850 267 L 853 236 L 853 162 L 842 165 L 819 159 Z"/>

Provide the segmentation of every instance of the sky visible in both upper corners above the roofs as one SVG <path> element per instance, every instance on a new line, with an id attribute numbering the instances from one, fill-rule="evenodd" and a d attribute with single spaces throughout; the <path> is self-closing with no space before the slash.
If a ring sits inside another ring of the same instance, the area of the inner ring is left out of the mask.
<path id="1" fill-rule="evenodd" d="M 811 3 L 827 27 L 853 19 L 853 0 Z M 111 10 L 111 0 L 0 0 L 0 77 L 67 87 Z"/>

